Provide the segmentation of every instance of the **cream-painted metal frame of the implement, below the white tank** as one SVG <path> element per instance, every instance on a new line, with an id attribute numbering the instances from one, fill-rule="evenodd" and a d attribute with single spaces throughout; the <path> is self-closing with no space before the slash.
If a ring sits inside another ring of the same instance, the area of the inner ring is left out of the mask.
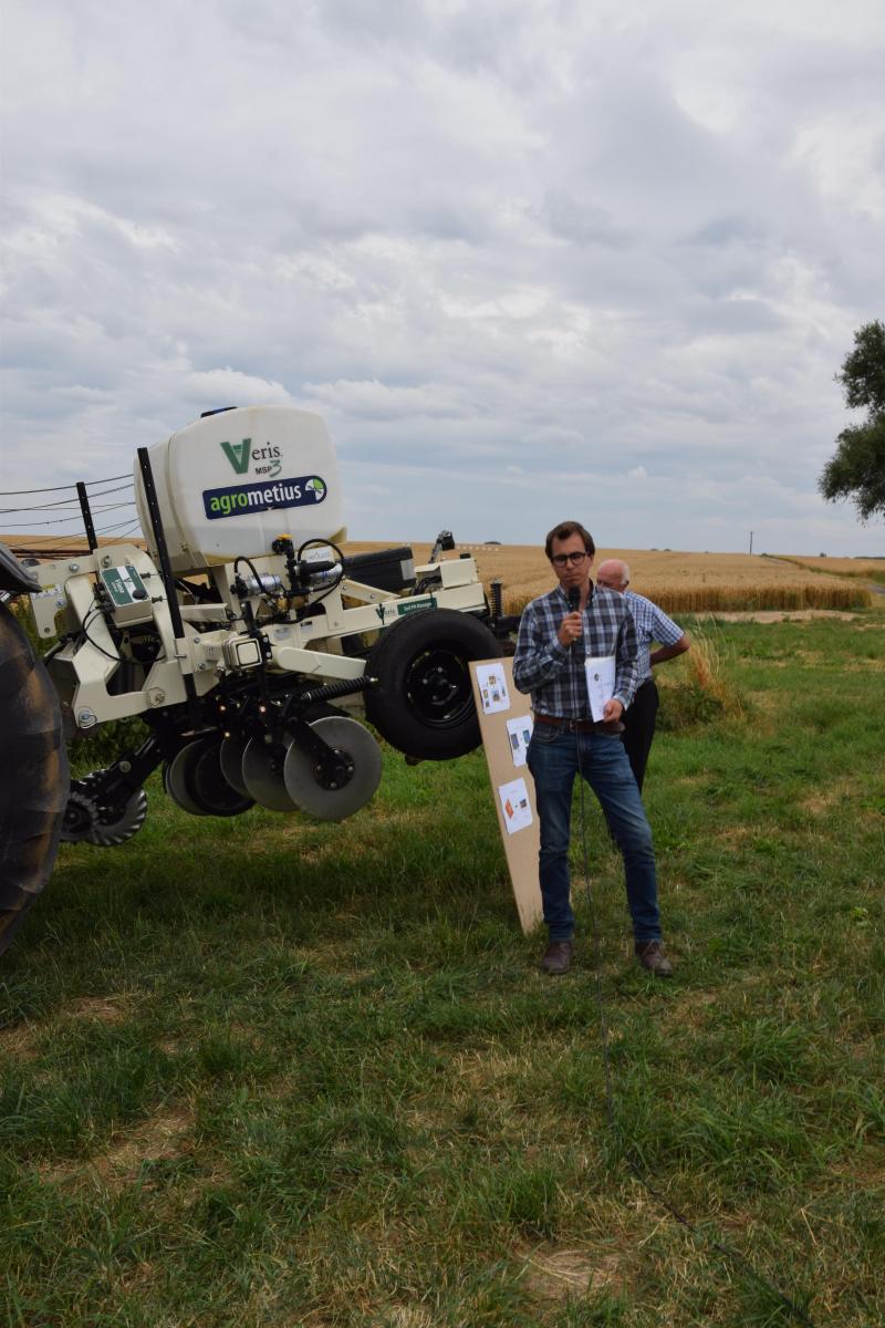
<path id="1" fill-rule="evenodd" d="M 256 556 L 249 563 L 261 576 L 281 580 L 284 559 Z M 126 635 L 133 628 L 153 624 L 161 657 L 146 668 L 143 683 L 131 691 L 109 691 L 123 656 L 105 615 L 97 611 L 96 584 L 102 572 L 131 567 L 149 591 L 114 615 Z M 218 603 L 179 603 L 186 633 L 175 636 L 163 579 L 150 555 L 135 544 L 113 544 L 92 554 L 42 563 L 31 568 L 42 594 L 32 596 L 37 633 L 46 639 L 58 632 L 57 618 L 64 611 L 62 635 L 68 640 L 52 653 L 50 673 L 74 730 L 88 732 L 97 724 L 123 720 L 145 710 L 187 701 L 186 677 L 192 677 L 198 696 L 218 687 L 226 673 L 259 668 L 264 661 L 247 631 L 244 606 L 249 604 L 259 629 L 268 596 L 252 594 L 238 599 L 234 564 L 216 567 L 211 580 L 220 592 Z M 364 677 L 366 660 L 342 652 L 341 641 L 356 635 L 378 633 L 406 614 L 451 608 L 458 612 L 486 612 L 486 596 L 472 556 L 441 559 L 415 567 L 418 583 L 433 583 L 433 591 L 419 595 L 391 595 L 342 576 L 329 590 L 306 592 L 304 607 L 316 612 L 300 620 L 272 623 L 263 631 L 269 651 L 267 667 L 276 673 L 299 673 L 322 681 Z M 226 625 L 219 625 L 219 619 Z M 86 625 L 86 637 L 78 629 Z M 353 704 L 353 703 L 352 703 Z"/>

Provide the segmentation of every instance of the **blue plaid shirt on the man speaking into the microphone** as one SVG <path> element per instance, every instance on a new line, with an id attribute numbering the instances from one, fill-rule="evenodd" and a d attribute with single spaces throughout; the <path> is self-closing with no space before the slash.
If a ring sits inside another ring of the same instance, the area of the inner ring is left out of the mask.
<path id="1" fill-rule="evenodd" d="M 560 718 L 589 717 L 584 660 L 594 655 L 614 656 L 614 699 L 624 709 L 633 700 L 638 677 L 636 623 L 624 595 L 592 586 L 584 610 L 584 636 L 568 648 L 557 632 L 569 612 L 561 586 L 525 606 L 519 624 L 513 681 L 520 692 L 532 693 L 537 714 Z"/>

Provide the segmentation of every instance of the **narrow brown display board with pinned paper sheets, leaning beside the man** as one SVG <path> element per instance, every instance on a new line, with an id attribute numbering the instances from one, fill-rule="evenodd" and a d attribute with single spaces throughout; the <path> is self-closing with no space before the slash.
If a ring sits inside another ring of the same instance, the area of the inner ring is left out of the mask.
<path id="1" fill-rule="evenodd" d="M 516 910 L 523 931 L 528 932 L 541 920 L 540 831 L 535 784 L 525 765 L 532 733 L 531 697 L 513 687 L 510 659 L 471 664 L 470 677 Z"/>

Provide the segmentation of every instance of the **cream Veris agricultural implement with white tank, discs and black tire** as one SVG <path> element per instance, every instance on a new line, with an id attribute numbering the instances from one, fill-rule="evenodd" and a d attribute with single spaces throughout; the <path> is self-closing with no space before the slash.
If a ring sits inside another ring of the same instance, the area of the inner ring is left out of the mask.
<path id="1" fill-rule="evenodd" d="M 442 556 L 448 531 L 418 567 L 406 546 L 345 556 L 318 416 L 208 412 L 139 449 L 135 501 L 146 548 L 100 547 L 84 501 L 89 552 L 29 568 L 68 734 L 149 730 L 72 785 L 64 839 L 134 835 L 161 765 L 192 815 L 257 803 L 340 821 L 381 780 L 364 718 L 411 762 L 479 744 L 468 661 L 502 653 L 500 596 L 490 610 L 471 555 Z"/>

